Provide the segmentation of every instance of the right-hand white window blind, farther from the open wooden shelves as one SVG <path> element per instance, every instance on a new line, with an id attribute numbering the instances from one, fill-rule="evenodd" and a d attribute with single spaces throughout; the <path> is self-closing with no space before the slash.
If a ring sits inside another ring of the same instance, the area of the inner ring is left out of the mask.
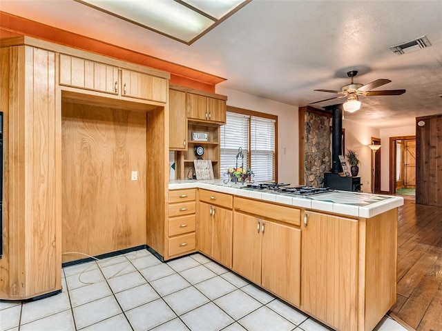
<path id="1" fill-rule="evenodd" d="M 251 165 L 255 181 L 273 181 L 275 173 L 275 121 L 251 117 Z"/>

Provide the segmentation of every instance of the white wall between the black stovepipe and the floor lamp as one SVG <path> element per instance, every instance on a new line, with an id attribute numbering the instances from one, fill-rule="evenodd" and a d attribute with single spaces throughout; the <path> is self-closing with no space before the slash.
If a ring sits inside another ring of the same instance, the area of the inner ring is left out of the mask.
<path id="1" fill-rule="evenodd" d="M 345 150 L 356 150 L 358 154 L 360 161 L 358 176 L 361 176 L 362 190 L 372 192 L 372 150 L 368 145 L 372 143 L 372 137 L 381 138 L 380 130 L 347 119 L 343 120 L 343 128 L 345 128 Z M 381 161 L 382 158 L 381 156 Z"/>

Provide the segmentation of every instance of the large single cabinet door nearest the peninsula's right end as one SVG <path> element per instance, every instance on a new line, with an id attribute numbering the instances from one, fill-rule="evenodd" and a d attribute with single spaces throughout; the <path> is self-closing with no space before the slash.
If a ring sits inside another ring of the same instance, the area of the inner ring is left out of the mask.
<path id="1" fill-rule="evenodd" d="M 357 330 L 358 223 L 306 212 L 301 309 L 336 330 Z"/>

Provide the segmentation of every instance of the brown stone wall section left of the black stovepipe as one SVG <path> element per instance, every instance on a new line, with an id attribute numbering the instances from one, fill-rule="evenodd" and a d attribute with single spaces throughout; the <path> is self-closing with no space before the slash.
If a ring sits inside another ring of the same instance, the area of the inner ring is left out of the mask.
<path id="1" fill-rule="evenodd" d="M 330 171 L 332 164 L 329 118 L 305 112 L 304 119 L 305 185 L 323 187 L 324 172 Z"/>

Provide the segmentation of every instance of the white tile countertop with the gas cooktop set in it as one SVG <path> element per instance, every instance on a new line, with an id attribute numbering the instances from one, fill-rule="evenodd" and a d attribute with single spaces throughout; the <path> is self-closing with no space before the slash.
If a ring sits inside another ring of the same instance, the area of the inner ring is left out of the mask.
<path id="1" fill-rule="evenodd" d="M 271 201 L 294 207 L 333 212 L 352 217 L 370 218 L 403 205 L 402 197 L 392 195 L 358 193 L 332 190 L 307 197 L 294 197 L 280 192 L 260 192 L 248 190 L 245 185 L 224 183 L 222 179 L 211 181 L 182 180 L 170 181 L 169 190 L 183 188 L 203 188 L 215 192 L 229 193 L 238 197 L 249 197 L 262 201 Z"/>

